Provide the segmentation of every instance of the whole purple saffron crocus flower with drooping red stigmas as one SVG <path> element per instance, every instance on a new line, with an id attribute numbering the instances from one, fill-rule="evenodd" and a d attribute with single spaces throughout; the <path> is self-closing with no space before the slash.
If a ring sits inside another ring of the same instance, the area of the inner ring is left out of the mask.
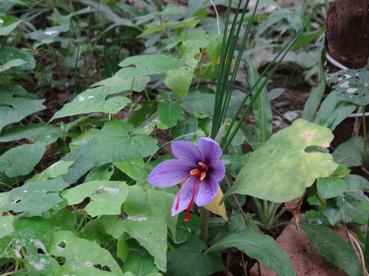
<path id="1" fill-rule="evenodd" d="M 198 147 L 187 141 L 172 142 L 172 152 L 178 159 L 159 164 L 147 178 L 158 187 L 174 186 L 182 182 L 174 199 L 172 216 L 187 209 L 184 221 L 189 220 L 193 202 L 197 206 L 209 204 L 218 192 L 224 177 L 220 146 L 213 139 L 197 139 Z"/>

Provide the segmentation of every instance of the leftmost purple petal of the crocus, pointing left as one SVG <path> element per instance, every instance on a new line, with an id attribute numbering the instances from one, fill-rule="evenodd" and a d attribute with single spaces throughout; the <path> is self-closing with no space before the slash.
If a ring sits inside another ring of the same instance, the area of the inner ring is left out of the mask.
<path id="1" fill-rule="evenodd" d="M 192 164 L 177 159 L 166 160 L 157 165 L 147 178 L 152 185 L 158 187 L 174 186 L 190 176 Z"/>

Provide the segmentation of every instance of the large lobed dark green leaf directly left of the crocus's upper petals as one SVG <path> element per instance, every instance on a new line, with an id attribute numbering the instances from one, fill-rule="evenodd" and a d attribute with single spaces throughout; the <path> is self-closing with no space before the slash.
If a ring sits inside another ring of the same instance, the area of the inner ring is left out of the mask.
<path id="1" fill-rule="evenodd" d="M 154 154 L 158 150 L 156 139 L 145 134 L 128 134 L 133 129 L 131 124 L 118 120 L 106 122 L 96 139 L 62 158 L 64 161 L 75 161 L 63 178 L 73 183 L 93 167 Z"/>

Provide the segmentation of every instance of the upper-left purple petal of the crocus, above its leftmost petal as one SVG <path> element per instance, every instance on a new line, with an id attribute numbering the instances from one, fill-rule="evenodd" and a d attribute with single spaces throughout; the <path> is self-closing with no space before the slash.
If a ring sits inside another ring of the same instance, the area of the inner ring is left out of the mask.
<path id="1" fill-rule="evenodd" d="M 179 160 L 191 162 L 195 166 L 202 161 L 200 150 L 194 144 L 187 141 L 174 141 L 171 145 L 174 156 Z"/>

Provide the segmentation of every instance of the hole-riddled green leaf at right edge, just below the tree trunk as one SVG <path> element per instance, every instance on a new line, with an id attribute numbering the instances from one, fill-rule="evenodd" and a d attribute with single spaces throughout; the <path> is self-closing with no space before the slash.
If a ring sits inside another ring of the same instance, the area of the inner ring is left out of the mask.
<path id="1" fill-rule="evenodd" d="M 337 83 L 332 89 L 337 92 L 341 101 L 352 102 L 356 105 L 369 104 L 369 69 L 341 70 L 334 74 L 326 74 L 327 84 Z"/>

